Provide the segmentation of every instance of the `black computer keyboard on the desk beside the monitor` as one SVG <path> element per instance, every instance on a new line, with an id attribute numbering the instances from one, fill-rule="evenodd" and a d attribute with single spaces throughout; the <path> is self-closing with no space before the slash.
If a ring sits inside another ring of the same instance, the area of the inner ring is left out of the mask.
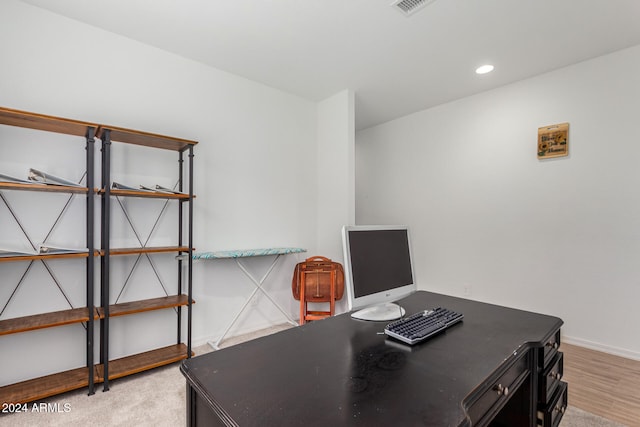
<path id="1" fill-rule="evenodd" d="M 391 322 L 384 328 L 384 333 L 413 345 L 458 323 L 463 317 L 460 313 L 438 307 Z"/>

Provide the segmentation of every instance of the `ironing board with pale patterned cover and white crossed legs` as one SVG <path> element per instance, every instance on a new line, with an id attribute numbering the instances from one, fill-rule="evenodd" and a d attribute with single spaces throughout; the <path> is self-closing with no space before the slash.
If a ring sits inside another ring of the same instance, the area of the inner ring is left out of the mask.
<path id="1" fill-rule="evenodd" d="M 280 259 L 280 257 L 282 255 L 295 254 L 295 253 L 301 253 L 301 252 L 306 252 L 306 251 L 307 250 L 303 249 L 303 248 L 262 248 L 262 249 L 241 249 L 241 250 L 229 250 L 229 251 L 213 251 L 213 252 L 195 252 L 193 254 L 193 259 L 194 260 L 215 260 L 215 259 L 230 259 L 230 258 L 234 259 L 235 262 L 236 262 L 236 265 L 249 278 L 249 280 L 251 280 L 251 282 L 256 287 L 253 290 L 253 292 L 251 292 L 251 295 L 249 295 L 249 297 L 245 301 L 244 305 L 240 308 L 240 311 L 238 311 L 238 313 L 233 318 L 231 323 L 229 323 L 229 326 L 227 326 L 227 329 L 224 331 L 222 336 L 220 338 L 218 338 L 218 341 L 216 341 L 215 343 L 209 342 L 208 344 L 211 347 L 213 347 L 215 350 L 220 348 L 220 343 L 222 342 L 224 337 L 227 335 L 229 330 L 236 323 L 236 321 L 238 320 L 238 318 L 240 317 L 240 315 L 242 314 L 244 309 L 247 307 L 247 305 L 249 305 L 249 302 L 251 302 L 251 300 L 253 299 L 253 297 L 255 296 L 255 294 L 258 291 L 262 292 L 264 294 L 264 296 L 269 298 L 269 301 L 271 301 L 273 303 L 273 305 L 275 305 L 276 308 L 278 310 L 280 310 L 280 312 L 284 315 L 284 317 L 287 319 L 287 321 L 289 323 L 291 323 L 293 326 L 297 326 L 298 323 L 294 322 L 289 317 L 287 312 L 285 310 L 283 310 L 282 307 L 280 307 L 280 305 L 271 297 L 271 295 L 269 295 L 267 293 L 267 291 L 262 287 L 262 285 L 263 285 L 264 281 L 267 279 L 267 277 L 269 276 L 269 274 L 271 273 L 271 270 L 273 270 L 273 267 L 275 267 L 275 265 L 277 264 L 278 259 Z M 257 257 L 257 256 L 268 256 L 268 255 L 275 255 L 275 258 L 273 259 L 273 262 L 271 263 L 271 265 L 267 269 L 267 272 L 264 274 L 264 276 L 262 276 L 262 278 L 260 280 L 257 280 L 253 276 L 253 274 L 251 274 L 251 272 L 246 268 L 246 266 L 241 261 L 243 258 Z"/>

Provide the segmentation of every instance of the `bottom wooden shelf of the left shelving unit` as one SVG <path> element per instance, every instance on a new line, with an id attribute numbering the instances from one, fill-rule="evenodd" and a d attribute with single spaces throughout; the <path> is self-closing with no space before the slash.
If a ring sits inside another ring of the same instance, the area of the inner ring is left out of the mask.
<path id="1" fill-rule="evenodd" d="M 94 381 L 98 376 L 94 370 Z M 77 368 L 0 387 L 0 402 L 27 403 L 89 386 L 87 368 Z"/>

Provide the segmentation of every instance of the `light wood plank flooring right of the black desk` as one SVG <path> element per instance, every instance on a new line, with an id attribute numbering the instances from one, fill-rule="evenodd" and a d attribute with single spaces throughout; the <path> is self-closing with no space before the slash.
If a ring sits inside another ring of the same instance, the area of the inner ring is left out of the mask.
<path id="1" fill-rule="evenodd" d="M 569 405 L 640 426 L 640 361 L 562 343 Z"/>

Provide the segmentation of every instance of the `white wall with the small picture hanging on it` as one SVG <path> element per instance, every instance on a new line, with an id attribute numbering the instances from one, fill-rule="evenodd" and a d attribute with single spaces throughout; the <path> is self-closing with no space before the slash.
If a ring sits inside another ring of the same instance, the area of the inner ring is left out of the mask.
<path id="1" fill-rule="evenodd" d="M 411 226 L 422 289 L 640 359 L 638 76 L 640 46 L 357 133 L 357 222 Z M 561 122 L 570 155 L 538 160 Z"/>

